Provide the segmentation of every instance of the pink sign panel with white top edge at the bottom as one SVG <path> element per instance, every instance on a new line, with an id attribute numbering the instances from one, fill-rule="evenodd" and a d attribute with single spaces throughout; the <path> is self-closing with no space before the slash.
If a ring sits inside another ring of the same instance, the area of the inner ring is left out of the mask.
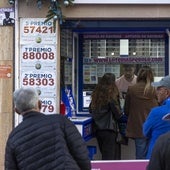
<path id="1" fill-rule="evenodd" d="M 148 160 L 92 161 L 92 170 L 146 170 Z"/>

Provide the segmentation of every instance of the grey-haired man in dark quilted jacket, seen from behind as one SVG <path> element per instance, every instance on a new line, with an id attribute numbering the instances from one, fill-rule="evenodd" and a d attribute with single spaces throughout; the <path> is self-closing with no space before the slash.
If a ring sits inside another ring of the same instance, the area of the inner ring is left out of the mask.
<path id="1" fill-rule="evenodd" d="M 34 88 L 14 92 L 14 105 L 23 121 L 10 133 L 5 170 L 90 170 L 86 144 L 65 116 L 45 115 Z"/>

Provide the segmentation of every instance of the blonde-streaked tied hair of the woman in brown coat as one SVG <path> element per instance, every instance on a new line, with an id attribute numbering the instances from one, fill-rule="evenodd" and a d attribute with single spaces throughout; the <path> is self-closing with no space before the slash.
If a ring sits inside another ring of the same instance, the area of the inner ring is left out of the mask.
<path id="1" fill-rule="evenodd" d="M 145 89 L 144 94 L 147 93 L 147 91 L 152 88 L 151 83 L 154 81 L 154 75 L 153 71 L 149 66 L 143 66 L 139 69 L 138 76 L 137 76 L 137 82 L 144 82 Z"/>

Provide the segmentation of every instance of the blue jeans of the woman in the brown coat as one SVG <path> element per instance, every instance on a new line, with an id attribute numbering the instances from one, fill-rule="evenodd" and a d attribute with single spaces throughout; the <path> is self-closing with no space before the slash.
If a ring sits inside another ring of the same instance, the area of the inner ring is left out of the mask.
<path id="1" fill-rule="evenodd" d="M 136 159 L 146 159 L 146 153 L 148 150 L 148 139 L 135 138 L 136 147 Z"/>

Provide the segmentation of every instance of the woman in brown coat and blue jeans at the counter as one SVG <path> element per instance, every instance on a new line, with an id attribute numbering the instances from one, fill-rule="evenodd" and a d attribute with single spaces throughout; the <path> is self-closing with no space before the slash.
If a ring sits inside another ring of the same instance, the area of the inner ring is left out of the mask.
<path id="1" fill-rule="evenodd" d="M 134 139 L 136 159 L 145 159 L 148 140 L 143 135 L 143 123 L 150 110 L 158 105 L 156 91 L 151 86 L 154 81 L 153 71 L 149 66 L 140 68 L 137 83 L 128 87 L 124 112 L 128 116 L 126 136 Z"/>

